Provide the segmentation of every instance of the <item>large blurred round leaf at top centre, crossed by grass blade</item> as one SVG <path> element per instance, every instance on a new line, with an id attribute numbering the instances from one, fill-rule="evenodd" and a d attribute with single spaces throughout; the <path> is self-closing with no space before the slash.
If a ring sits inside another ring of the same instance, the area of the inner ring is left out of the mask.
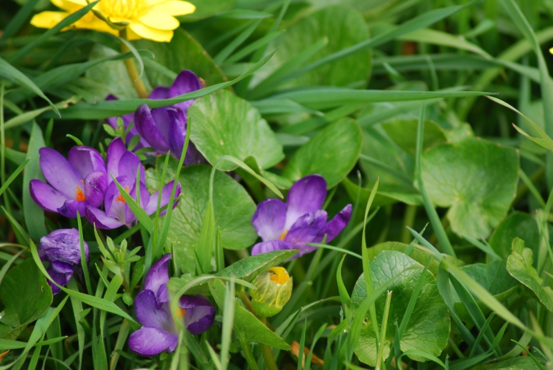
<path id="1" fill-rule="evenodd" d="M 328 39 L 326 47 L 312 55 L 304 63 L 316 62 L 339 50 L 365 41 L 368 39 L 368 28 L 361 13 L 353 8 L 330 6 L 314 12 L 288 28 L 285 34 L 271 44 L 270 49 L 279 48 L 279 52 L 268 64 L 268 67 L 272 67 L 270 71 L 274 71 L 323 38 Z M 281 87 L 347 86 L 356 82 L 365 83 L 370 71 L 371 52 L 364 50 L 362 53 L 351 55 L 339 62 L 294 77 Z"/>

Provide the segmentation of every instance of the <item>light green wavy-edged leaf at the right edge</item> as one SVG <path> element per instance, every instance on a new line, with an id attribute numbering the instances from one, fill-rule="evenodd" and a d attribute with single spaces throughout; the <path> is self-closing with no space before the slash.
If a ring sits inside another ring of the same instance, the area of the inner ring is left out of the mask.
<path id="1" fill-rule="evenodd" d="M 511 255 L 507 258 L 509 274 L 532 290 L 549 311 L 553 311 L 553 290 L 550 286 L 542 286 L 543 279 L 532 266 L 534 261 L 532 250 L 525 248 L 524 241 L 518 238 L 513 240 L 512 250 Z"/>

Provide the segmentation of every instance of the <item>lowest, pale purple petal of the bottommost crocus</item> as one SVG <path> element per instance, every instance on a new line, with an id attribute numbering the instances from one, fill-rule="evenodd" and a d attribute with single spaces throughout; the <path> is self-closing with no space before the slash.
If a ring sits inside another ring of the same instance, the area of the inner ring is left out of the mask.
<path id="1" fill-rule="evenodd" d="M 129 348 L 143 356 L 154 356 L 163 351 L 171 353 L 176 349 L 177 344 L 178 334 L 146 326 L 129 337 Z"/>

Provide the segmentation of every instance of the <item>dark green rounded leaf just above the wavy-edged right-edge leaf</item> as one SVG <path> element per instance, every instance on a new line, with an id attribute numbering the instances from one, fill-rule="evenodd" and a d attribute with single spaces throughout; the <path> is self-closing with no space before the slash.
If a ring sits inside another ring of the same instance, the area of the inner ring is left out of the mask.
<path id="1" fill-rule="evenodd" d="M 489 246 L 503 259 L 511 254 L 511 245 L 514 238 L 521 238 L 527 248 L 534 253 L 540 246 L 540 230 L 532 215 L 523 212 L 514 212 L 498 225 L 494 234 L 491 234 Z"/>

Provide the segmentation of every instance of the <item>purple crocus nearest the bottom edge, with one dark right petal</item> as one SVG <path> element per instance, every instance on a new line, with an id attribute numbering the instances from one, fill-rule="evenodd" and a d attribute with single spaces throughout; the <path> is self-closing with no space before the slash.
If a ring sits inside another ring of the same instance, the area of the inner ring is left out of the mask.
<path id="1" fill-rule="evenodd" d="M 135 313 L 142 328 L 129 337 L 129 347 L 143 356 L 153 356 L 163 351 L 172 352 L 178 345 L 178 329 L 171 315 L 167 283 L 169 259 L 163 256 L 151 266 L 144 281 L 144 290 L 134 300 Z M 215 308 L 206 297 L 182 295 L 177 317 L 192 334 L 201 334 L 212 326 Z"/>

